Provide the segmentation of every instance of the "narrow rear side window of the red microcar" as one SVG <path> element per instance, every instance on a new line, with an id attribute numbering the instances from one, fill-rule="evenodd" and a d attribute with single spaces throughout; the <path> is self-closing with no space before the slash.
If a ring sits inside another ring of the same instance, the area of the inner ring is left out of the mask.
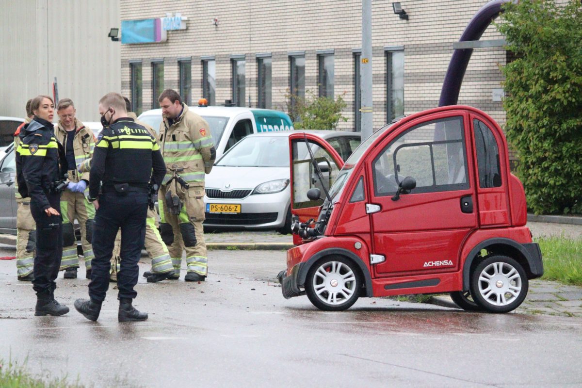
<path id="1" fill-rule="evenodd" d="M 481 188 L 501 186 L 499 148 L 491 129 L 481 120 L 473 120 L 477 168 Z"/>

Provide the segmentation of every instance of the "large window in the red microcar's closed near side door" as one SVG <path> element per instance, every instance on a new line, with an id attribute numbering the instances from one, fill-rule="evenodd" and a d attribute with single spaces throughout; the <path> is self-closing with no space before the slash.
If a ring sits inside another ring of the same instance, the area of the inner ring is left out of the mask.
<path id="1" fill-rule="evenodd" d="M 374 192 L 392 195 L 404 177 L 416 179 L 413 193 L 469 188 L 463 118 L 421 123 L 392 141 L 374 159 Z"/>

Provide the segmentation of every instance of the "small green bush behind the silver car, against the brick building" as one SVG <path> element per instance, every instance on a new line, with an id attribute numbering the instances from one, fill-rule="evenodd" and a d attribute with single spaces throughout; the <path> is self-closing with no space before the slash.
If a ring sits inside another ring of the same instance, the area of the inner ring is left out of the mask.
<path id="1" fill-rule="evenodd" d="M 307 97 L 287 94 L 287 111 L 293 121 L 295 129 L 332 129 L 335 130 L 338 122 L 347 121 L 342 115 L 343 108 L 347 106 L 343 96 L 337 99 L 317 97 L 310 90 Z"/>

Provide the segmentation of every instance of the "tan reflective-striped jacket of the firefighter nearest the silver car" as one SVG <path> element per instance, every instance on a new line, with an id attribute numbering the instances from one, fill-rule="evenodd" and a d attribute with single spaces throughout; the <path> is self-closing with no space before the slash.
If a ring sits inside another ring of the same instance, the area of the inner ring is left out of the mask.
<path id="1" fill-rule="evenodd" d="M 208 123 L 184 107 L 182 115 L 172 125 L 163 117 L 159 126 L 159 147 L 166 163 L 166 176 L 162 184 L 172 177 L 172 169 L 184 168 L 178 174 L 190 187 L 204 187 L 204 173 L 210 173 L 216 159 Z"/>

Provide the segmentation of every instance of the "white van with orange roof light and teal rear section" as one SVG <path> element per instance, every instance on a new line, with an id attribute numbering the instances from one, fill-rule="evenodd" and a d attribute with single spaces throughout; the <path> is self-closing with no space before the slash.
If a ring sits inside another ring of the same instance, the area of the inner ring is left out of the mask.
<path id="1" fill-rule="evenodd" d="M 237 141 L 251 133 L 294 129 L 286 113 L 272 109 L 204 105 L 189 106 L 188 109 L 208 122 L 214 148 L 217 150 L 217 159 Z M 159 131 L 162 109 L 143 112 L 137 119 Z"/>

